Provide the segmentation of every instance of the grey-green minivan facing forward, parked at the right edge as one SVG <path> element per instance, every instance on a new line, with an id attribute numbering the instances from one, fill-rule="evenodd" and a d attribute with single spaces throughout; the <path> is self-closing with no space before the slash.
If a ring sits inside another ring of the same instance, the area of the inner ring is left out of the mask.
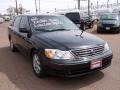
<path id="1" fill-rule="evenodd" d="M 113 13 L 101 15 L 98 21 L 97 32 L 100 33 L 103 31 L 120 32 L 120 15 Z"/>

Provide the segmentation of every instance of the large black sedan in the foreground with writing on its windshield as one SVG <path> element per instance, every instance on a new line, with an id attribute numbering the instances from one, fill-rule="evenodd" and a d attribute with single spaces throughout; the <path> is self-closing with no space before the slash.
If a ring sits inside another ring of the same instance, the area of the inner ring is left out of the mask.
<path id="1" fill-rule="evenodd" d="M 11 51 L 31 56 L 38 77 L 76 77 L 111 65 L 113 55 L 107 42 L 82 33 L 65 16 L 20 15 L 8 31 Z"/>

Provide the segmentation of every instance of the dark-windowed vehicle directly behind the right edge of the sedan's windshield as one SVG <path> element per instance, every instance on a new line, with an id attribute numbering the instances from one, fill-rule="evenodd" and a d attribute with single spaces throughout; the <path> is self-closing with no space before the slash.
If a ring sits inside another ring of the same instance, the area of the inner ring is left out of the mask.
<path id="1" fill-rule="evenodd" d="M 73 23 L 75 23 L 80 29 L 85 30 L 85 24 L 81 20 L 81 15 L 79 11 L 67 11 L 67 12 L 60 12 L 60 15 L 64 15 L 69 18 Z"/>

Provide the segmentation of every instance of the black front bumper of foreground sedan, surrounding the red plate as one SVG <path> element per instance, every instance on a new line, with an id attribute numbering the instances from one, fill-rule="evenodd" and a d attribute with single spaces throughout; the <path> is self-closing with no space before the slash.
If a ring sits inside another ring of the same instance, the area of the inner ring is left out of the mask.
<path id="1" fill-rule="evenodd" d="M 110 66 L 112 57 L 112 52 L 109 52 L 109 54 L 103 55 L 102 57 L 96 59 L 91 59 L 87 62 L 76 62 L 74 64 L 58 64 L 48 61 L 44 66 L 46 68 L 47 73 L 49 74 L 61 77 L 77 77 Z M 102 67 L 91 70 L 90 63 L 92 60 L 102 60 Z"/>

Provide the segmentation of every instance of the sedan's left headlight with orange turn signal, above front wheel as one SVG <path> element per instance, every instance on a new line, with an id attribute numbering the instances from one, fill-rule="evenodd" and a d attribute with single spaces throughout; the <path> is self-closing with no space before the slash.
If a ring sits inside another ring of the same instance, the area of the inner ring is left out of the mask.
<path id="1" fill-rule="evenodd" d="M 58 49 L 45 49 L 45 56 L 52 59 L 72 59 L 73 56 L 69 51 Z"/>

